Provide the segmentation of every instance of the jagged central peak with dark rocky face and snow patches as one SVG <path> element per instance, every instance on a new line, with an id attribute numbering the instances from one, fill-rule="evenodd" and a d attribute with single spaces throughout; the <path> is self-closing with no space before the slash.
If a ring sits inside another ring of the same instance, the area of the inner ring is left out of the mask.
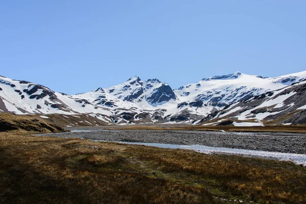
<path id="1" fill-rule="evenodd" d="M 139 77 L 133 77 L 126 82 L 95 91 L 77 94 L 73 97 L 87 98 L 90 102 L 106 107 L 157 107 L 176 99 L 171 87 L 157 79 L 142 82 Z"/>

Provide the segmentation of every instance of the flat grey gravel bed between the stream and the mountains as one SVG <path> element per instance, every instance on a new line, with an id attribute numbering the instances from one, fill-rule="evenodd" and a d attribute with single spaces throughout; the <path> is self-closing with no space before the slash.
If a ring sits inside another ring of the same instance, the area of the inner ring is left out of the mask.
<path id="1" fill-rule="evenodd" d="M 278 151 L 306 154 L 306 134 L 298 133 L 236 133 L 205 131 L 151 131 L 118 130 L 106 131 L 91 127 L 72 127 L 71 132 L 43 134 L 43 136 L 83 138 L 104 141 L 147 142 L 181 145 L 206 145 L 251 150 Z"/>

